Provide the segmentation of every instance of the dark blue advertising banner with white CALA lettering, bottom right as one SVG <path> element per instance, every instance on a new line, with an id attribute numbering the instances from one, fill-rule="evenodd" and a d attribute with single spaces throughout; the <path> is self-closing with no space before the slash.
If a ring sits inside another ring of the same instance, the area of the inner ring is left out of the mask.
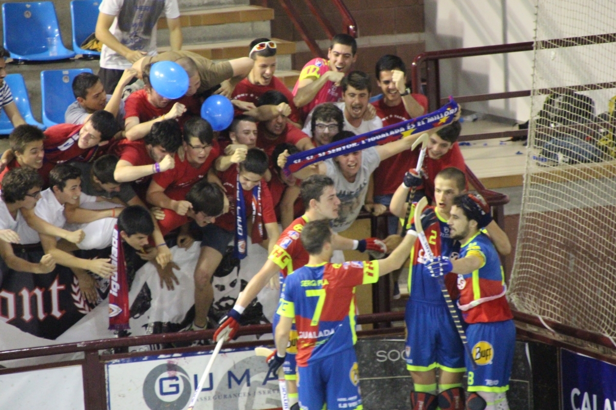
<path id="1" fill-rule="evenodd" d="M 616 366 L 561 349 L 564 410 L 615 410 Z"/>

